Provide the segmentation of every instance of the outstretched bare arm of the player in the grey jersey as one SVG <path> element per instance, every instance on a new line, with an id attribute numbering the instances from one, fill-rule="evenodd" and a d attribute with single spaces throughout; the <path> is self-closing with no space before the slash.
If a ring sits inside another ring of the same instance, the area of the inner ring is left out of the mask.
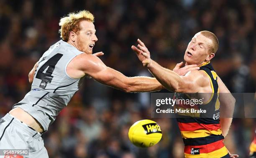
<path id="1" fill-rule="evenodd" d="M 98 82 L 125 92 L 153 92 L 161 90 L 161 84 L 152 77 L 127 77 L 108 66 L 97 56 L 81 54 L 76 68 L 81 76 L 92 76 Z"/>

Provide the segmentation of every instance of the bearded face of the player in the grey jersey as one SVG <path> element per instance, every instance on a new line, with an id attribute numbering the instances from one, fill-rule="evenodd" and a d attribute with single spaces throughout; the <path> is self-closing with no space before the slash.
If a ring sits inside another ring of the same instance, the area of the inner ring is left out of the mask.
<path id="1" fill-rule="evenodd" d="M 95 26 L 92 22 L 83 20 L 80 22 L 80 31 L 77 32 L 77 48 L 86 54 L 92 54 L 92 48 L 98 38 L 95 35 Z"/>

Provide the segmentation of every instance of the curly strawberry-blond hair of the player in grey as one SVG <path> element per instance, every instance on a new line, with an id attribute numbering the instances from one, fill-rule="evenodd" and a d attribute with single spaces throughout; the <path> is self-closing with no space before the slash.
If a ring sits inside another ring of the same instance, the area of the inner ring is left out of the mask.
<path id="1" fill-rule="evenodd" d="M 80 31 L 79 23 L 82 20 L 87 20 L 90 22 L 94 22 L 94 16 L 88 10 L 81 10 L 78 13 L 69 13 L 66 17 L 61 18 L 59 21 L 59 25 L 61 28 L 59 29 L 60 37 L 63 41 L 68 41 L 69 33 L 74 31 Z"/>

